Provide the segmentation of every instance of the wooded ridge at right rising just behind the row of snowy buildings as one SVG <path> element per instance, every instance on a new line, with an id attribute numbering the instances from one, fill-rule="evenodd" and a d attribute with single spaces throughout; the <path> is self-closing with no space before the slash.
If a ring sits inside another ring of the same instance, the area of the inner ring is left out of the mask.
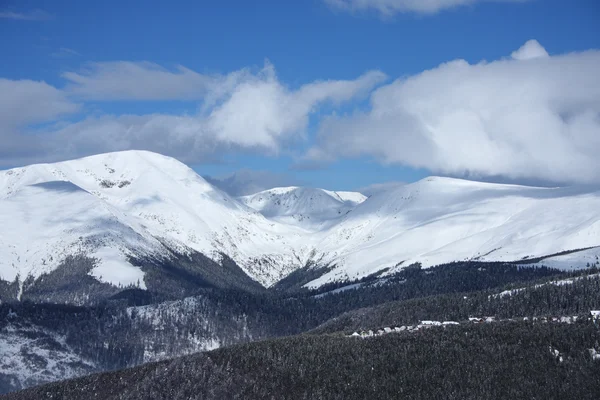
<path id="1" fill-rule="evenodd" d="M 498 319 L 589 316 L 600 309 L 600 274 L 515 286 L 501 292 L 473 291 L 393 301 L 360 308 L 332 318 L 314 333 L 354 331 L 414 324 L 421 320 L 465 321 L 470 317 Z"/>

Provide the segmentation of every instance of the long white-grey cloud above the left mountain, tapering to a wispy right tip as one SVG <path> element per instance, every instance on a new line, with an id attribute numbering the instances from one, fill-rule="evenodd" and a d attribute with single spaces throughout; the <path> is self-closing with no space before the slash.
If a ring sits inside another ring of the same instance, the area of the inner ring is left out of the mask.
<path id="1" fill-rule="evenodd" d="M 231 150 L 277 154 L 282 146 L 303 138 L 309 116 L 319 105 L 329 102 L 335 106 L 367 95 L 385 79 L 381 72 L 373 71 L 356 80 L 317 81 L 291 89 L 277 78 L 270 64 L 256 73 L 242 70 L 219 77 L 184 68 L 173 73 L 147 63 L 102 64 L 93 71 L 67 74 L 71 84 L 65 91 L 39 82 L 0 81 L 0 135 L 3 127 L 19 127 L 20 134 L 11 130 L 11 142 L 24 149 L 29 142 L 38 142 L 40 154 L 32 154 L 35 161 L 132 148 L 188 162 L 218 158 Z M 86 99 L 194 98 L 202 107 L 192 115 L 88 116 L 52 129 L 27 129 L 75 111 L 77 106 L 67 94 Z M 5 165 L 30 162 L 7 161 L 6 154 L 0 161 Z"/>

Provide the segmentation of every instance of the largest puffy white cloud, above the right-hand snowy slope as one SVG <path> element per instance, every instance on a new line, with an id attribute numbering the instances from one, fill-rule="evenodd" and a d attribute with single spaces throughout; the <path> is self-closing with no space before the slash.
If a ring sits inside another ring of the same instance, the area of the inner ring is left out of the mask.
<path id="1" fill-rule="evenodd" d="M 600 51 L 455 60 L 377 89 L 371 109 L 331 116 L 307 154 L 372 156 L 460 176 L 600 182 Z"/>

